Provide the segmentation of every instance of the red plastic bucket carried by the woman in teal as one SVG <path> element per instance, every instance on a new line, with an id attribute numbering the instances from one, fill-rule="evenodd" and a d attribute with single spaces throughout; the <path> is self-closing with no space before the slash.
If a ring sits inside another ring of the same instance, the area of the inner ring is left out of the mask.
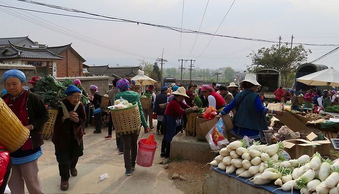
<path id="1" fill-rule="evenodd" d="M 137 155 L 137 164 L 142 167 L 150 167 L 153 164 L 155 150 L 158 147 L 158 143 L 155 145 L 147 145 L 145 141 L 147 139 L 140 139 L 138 142 L 139 149 Z"/>

